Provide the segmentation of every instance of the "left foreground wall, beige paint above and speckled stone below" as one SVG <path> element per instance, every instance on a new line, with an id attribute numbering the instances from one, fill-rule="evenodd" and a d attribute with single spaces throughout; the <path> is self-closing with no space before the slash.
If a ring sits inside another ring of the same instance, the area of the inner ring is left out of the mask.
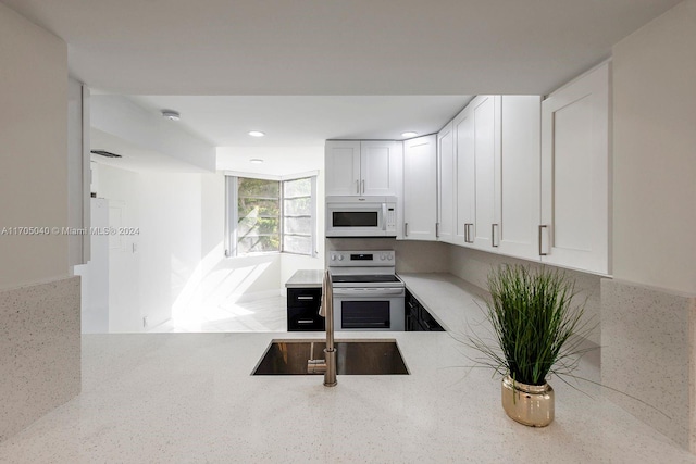
<path id="1" fill-rule="evenodd" d="M 67 48 L 1 3 L 0 109 L 0 230 L 66 226 Z M 67 236 L 0 235 L 0 441 L 79 393 L 79 347 Z"/>

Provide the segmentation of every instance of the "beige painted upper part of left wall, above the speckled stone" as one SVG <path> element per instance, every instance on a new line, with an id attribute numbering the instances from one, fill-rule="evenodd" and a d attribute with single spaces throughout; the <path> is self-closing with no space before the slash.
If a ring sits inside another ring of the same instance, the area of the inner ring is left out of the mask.
<path id="1" fill-rule="evenodd" d="M 0 4 L 0 229 L 67 225 L 67 48 Z M 0 236 L 0 289 L 66 277 L 67 236 Z"/>

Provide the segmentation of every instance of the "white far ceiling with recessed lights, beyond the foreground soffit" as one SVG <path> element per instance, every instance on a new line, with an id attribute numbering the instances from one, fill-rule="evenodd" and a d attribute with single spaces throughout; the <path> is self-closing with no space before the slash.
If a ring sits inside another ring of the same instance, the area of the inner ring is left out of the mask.
<path id="1" fill-rule="evenodd" d="M 401 133 L 438 131 L 465 96 L 220 96 L 133 97 L 160 113 L 174 109 L 179 124 L 216 147 L 312 147 L 326 139 L 402 139 Z M 256 138 L 249 130 L 266 135 Z"/>

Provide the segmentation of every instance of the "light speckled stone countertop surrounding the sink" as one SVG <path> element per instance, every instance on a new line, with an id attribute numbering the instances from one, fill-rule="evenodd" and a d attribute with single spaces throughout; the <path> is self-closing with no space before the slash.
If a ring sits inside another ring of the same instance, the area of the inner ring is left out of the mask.
<path id="1" fill-rule="evenodd" d="M 478 289 L 402 277 L 446 327 L 475 327 Z M 500 379 L 451 333 L 337 334 L 396 339 L 411 375 L 250 375 L 271 340 L 322 336 L 85 335 L 83 392 L 0 443 L 0 462 L 696 463 L 592 385 L 551 379 L 556 421 L 511 421 Z"/>

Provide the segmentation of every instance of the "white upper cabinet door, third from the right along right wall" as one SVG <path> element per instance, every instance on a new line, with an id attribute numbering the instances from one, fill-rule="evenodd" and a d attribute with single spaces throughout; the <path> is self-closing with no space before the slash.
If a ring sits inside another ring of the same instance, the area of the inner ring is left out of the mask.
<path id="1" fill-rule="evenodd" d="M 473 248 L 495 251 L 495 161 L 500 152 L 500 97 L 480 96 L 472 103 L 474 118 Z M 470 242 L 471 242 L 470 230 Z"/>

